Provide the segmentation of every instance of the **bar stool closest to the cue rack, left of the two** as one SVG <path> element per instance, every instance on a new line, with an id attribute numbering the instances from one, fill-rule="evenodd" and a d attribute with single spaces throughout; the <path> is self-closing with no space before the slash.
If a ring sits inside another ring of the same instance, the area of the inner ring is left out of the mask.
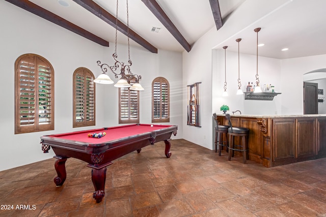
<path id="1" fill-rule="evenodd" d="M 223 147 L 226 147 L 226 151 L 228 152 L 228 125 L 219 125 L 218 118 L 216 117 L 216 113 L 213 114 L 214 120 L 216 122 L 215 126 L 215 152 L 218 152 L 219 145 L 219 156 L 221 156 L 221 151 Z M 223 139 L 222 139 L 223 138 Z"/>

